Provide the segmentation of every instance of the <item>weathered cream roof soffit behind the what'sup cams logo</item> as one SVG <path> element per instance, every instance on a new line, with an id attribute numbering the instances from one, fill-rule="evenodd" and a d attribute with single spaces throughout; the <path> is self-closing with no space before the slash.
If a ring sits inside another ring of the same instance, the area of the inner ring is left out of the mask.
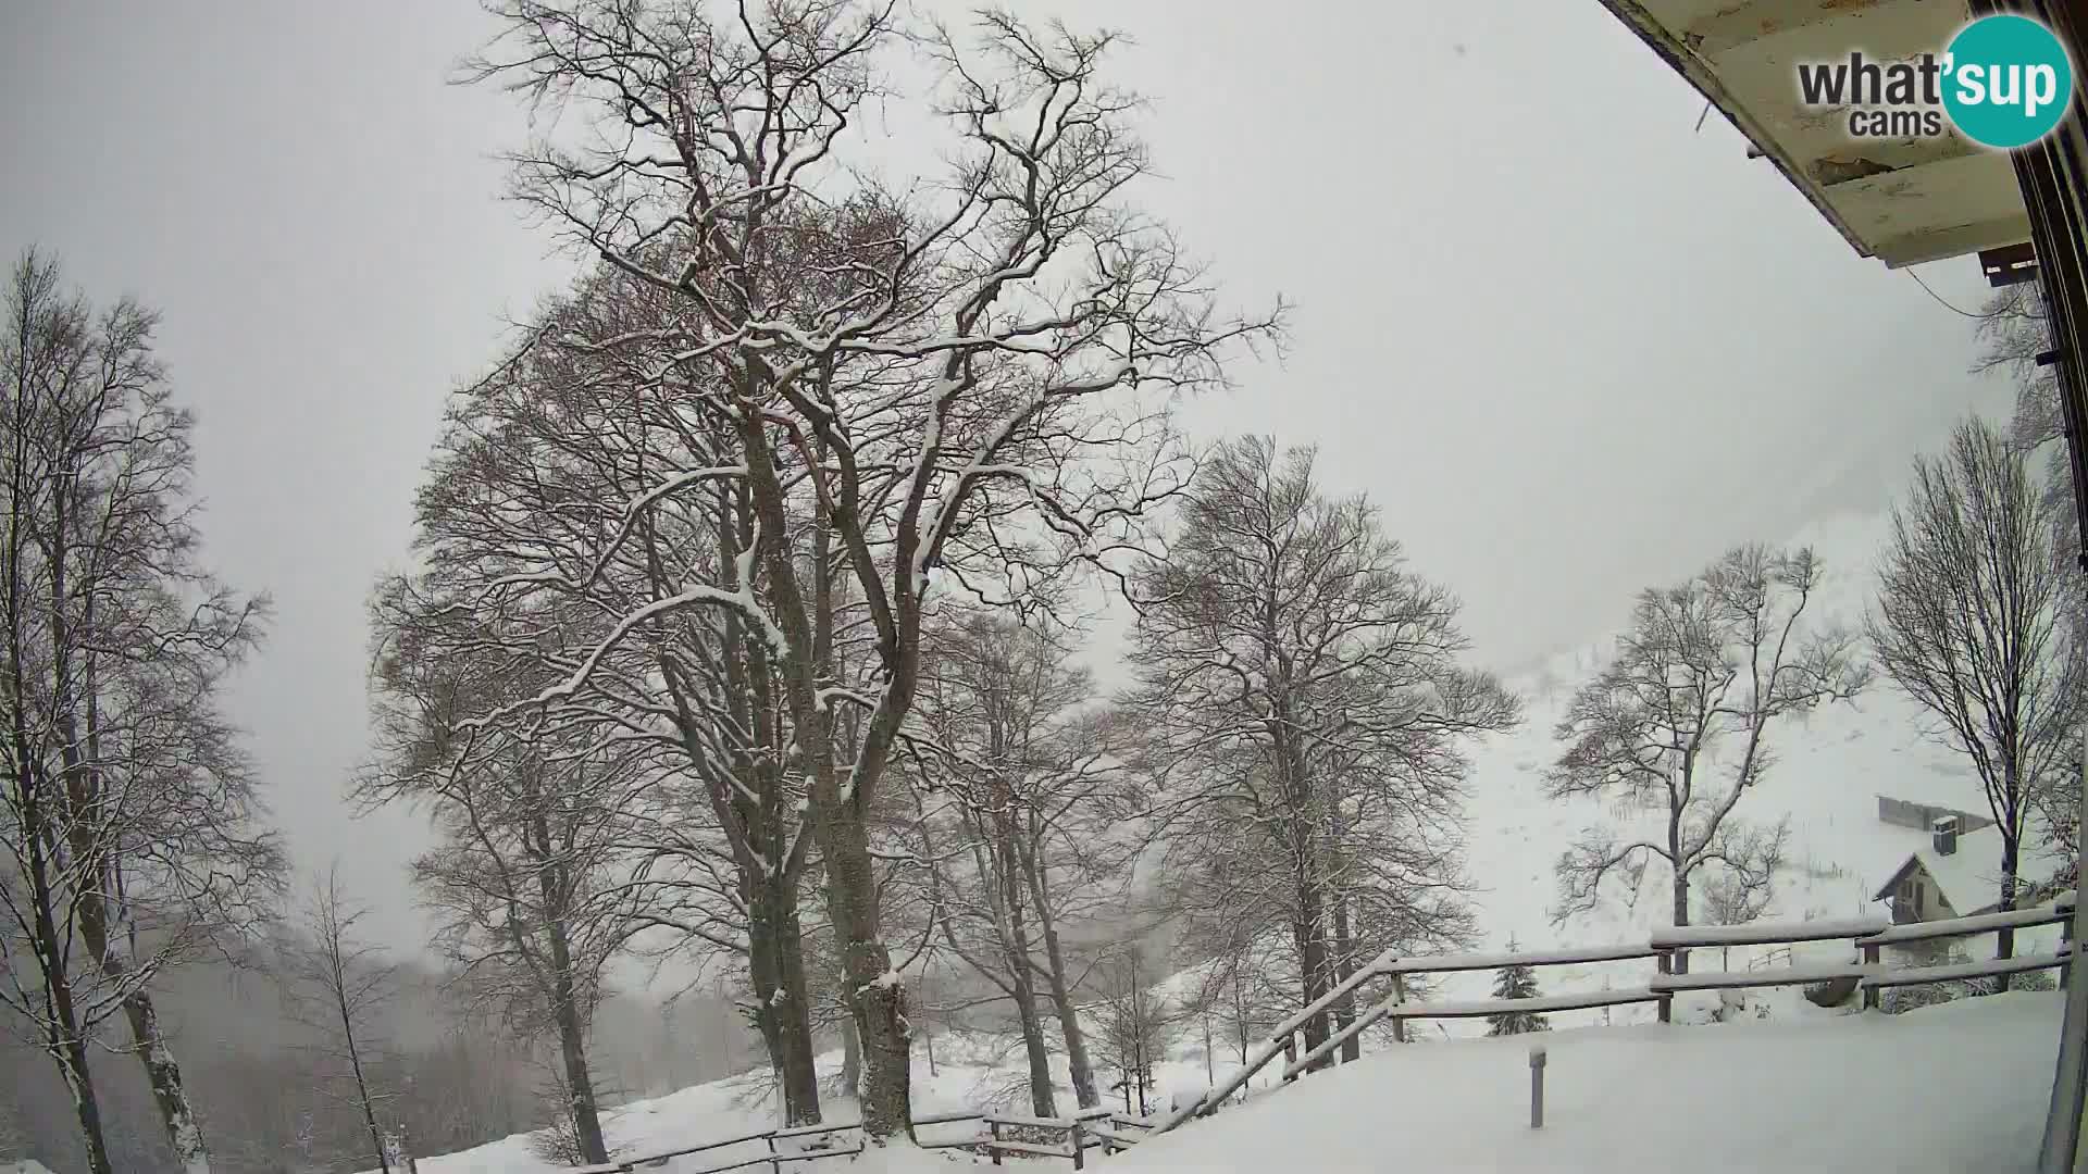
<path id="1" fill-rule="evenodd" d="M 1917 265 L 2030 238 L 2009 155 L 1944 138 L 1852 138 L 1802 109 L 1798 63 L 1942 52 L 1965 0 L 1601 0 L 1704 92 L 1865 257 Z M 1948 125 L 1948 121 L 1946 121 Z"/>

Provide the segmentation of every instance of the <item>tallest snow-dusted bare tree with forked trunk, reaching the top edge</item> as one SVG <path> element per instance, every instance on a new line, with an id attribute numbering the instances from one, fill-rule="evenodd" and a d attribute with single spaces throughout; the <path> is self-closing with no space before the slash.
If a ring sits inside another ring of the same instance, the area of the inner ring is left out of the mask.
<path id="1" fill-rule="evenodd" d="M 624 391 L 656 391 L 662 426 L 716 445 L 712 466 L 656 472 L 624 503 L 618 549 L 645 541 L 662 495 L 722 489 L 748 506 L 706 579 L 620 612 L 599 650 L 691 612 L 729 612 L 760 637 L 864 1049 L 864 1130 L 892 1136 L 906 1124 L 906 1011 L 871 811 L 917 700 L 923 606 L 960 587 L 1004 600 L 1069 560 L 1111 558 L 1180 483 L 1173 395 L 1221 382 L 1217 349 L 1270 322 L 1217 318 L 1165 226 L 1132 209 L 1146 152 L 1128 125 L 1136 102 L 1102 77 L 1107 36 L 988 13 L 977 36 L 902 38 L 894 6 L 833 0 L 495 13 L 505 36 L 482 75 L 562 111 L 557 140 L 520 152 L 516 190 L 674 303 L 674 351 Z M 858 165 L 879 148 L 852 132 L 898 98 L 883 63 L 908 44 L 942 67 L 923 104 L 948 130 L 948 173 L 883 186 Z M 833 543 L 871 633 L 867 687 L 831 673 L 818 562 L 789 541 L 806 524 Z"/>

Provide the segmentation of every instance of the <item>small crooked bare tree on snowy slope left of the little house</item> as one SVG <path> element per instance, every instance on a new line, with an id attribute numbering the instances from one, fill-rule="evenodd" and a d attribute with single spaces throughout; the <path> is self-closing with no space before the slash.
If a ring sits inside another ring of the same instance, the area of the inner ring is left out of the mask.
<path id="1" fill-rule="evenodd" d="M 1654 859 L 1668 865 L 1675 925 L 1689 925 L 1689 884 L 1702 869 L 1733 873 L 1741 888 L 1771 882 L 1787 821 L 1733 819 L 1775 760 L 1769 727 L 1869 683 L 1854 635 L 1802 623 L 1819 583 L 1810 547 L 1743 545 L 1677 587 L 1639 595 L 1610 664 L 1560 719 L 1566 750 L 1545 790 L 1650 811 L 1658 827 L 1652 836 L 1591 827 L 1568 848 L 1558 861 L 1556 921 L 1593 909 L 1610 877 L 1637 890 Z M 1689 959 L 1677 965 L 1687 971 Z"/>

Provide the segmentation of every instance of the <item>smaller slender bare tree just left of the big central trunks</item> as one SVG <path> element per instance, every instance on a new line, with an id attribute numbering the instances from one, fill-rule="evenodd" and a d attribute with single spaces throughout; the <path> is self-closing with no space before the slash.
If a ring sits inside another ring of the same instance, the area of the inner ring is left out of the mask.
<path id="1" fill-rule="evenodd" d="M 413 882 L 438 917 L 434 946 L 459 967 L 459 990 L 553 1040 L 570 1095 L 562 1111 L 587 1161 L 608 1161 L 587 1026 L 603 971 L 643 930 L 631 911 L 631 819 L 649 811 L 660 775 L 643 746 L 585 729 L 484 725 L 551 675 L 482 639 L 468 612 L 407 581 L 384 585 L 376 612 L 380 748 L 355 796 L 432 815 L 441 846 L 413 861 Z M 535 623 L 551 658 L 599 639 L 583 612 Z"/>

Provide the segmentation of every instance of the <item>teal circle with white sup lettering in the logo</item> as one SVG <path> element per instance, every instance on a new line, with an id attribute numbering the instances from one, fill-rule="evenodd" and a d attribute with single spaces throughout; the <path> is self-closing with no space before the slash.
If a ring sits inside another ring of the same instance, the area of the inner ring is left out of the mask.
<path id="1" fill-rule="evenodd" d="M 1998 148 L 2027 146 L 2059 125 L 2073 100 L 2073 63 L 2030 17 L 1979 17 L 1944 52 L 1944 111 L 1959 132 Z"/>

